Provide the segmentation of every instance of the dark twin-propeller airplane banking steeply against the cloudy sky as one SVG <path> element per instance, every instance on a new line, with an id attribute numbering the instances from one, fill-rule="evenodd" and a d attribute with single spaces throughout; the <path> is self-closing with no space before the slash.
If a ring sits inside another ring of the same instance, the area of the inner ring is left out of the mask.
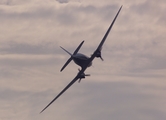
<path id="1" fill-rule="evenodd" d="M 82 44 L 84 43 L 84 41 L 82 41 L 80 43 L 80 45 L 77 47 L 77 49 L 74 51 L 73 54 L 71 54 L 70 52 L 68 52 L 66 49 L 64 49 L 63 47 L 61 47 L 65 52 L 67 52 L 70 55 L 70 58 L 67 60 L 67 62 L 64 64 L 64 66 L 62 67 L 62 69 L 60 71 L 63 71 L 63 69 L 73 60 L 77 65 L 79 65 L 81 67 L 81 70 L 79 70 L 79 72 L 77 73 L 76 77 L 40 112 L 42 113 L 46 108 L 48 108 L 57 98 L 59 98 L 71 85 L 73 85 L 77 80 L 79 80 L 78 82 L 81 81 L 81 79 L 84 79 L 86 76 L 90 76 L 90 74 L 85 74 L 85 70 L 90 67 L 92 65 L 92 61 L 94 58 L 100 58 L 103 61 L 103 58 L 101 56 L 101 50 L 102 50 L 102 46 L 117 18 L 117 16 L 119 15 L 119 12 L 121 11 L 122 6 L 120 7 L 120 9 L 118 10 L 115 18 L 113 19 L 111 25 L 109 26 L 107 32 L 105 33 L 102 41 L 100 42 L 99 46 L 97 47 L 97 49 L 94 51 L 94 53 L 91 55 L 91 57 L 87 57 L 84 54 L 81 53 L 77 53 L 79 51 L 79 49 L 81 48 Z"/>

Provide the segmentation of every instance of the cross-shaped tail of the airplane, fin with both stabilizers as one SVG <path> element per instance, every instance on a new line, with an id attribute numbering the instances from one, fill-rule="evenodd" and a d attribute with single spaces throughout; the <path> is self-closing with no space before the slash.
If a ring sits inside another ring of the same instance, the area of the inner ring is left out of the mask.
<path id="1" fill-rule="evenodd" d="M 65 52 L 67 52 L 71 57 L 67 60 L 67 62 L 64 64 L 64 66 L 61 68 L 61 72 L 63 71 L 63 69 L 71 62 L 71 60 L 73 60 L 73 55 L 77 54 L 77 52 L 79 51 L 79 49 L 81 48 L 82 44 L 84 43 L 84 41 L 82 41 L 80 43 L 80 45 L 77 47 L 77 49 L 74 51 L 73 54 L 71 54 L 70 52 L 68 52 L 66 49 L 64 49 L 63 47 L 61 47 Z"/>

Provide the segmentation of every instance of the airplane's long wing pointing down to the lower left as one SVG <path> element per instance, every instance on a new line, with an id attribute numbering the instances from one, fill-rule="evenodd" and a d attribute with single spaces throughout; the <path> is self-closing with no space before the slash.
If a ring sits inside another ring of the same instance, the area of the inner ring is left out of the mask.
<path id="1" fill-rule="evenodd" d="M 85 68 L 86 69 L 86 68 Z M 47 109 L 57 98 L 59 98 L 70 86 L 72 86 L 80 77 L 81 74 L 85 71 L 85 69 L 82 69 L 79 71 L 77 76 L 40 112 L 42 113 L 45 109 Z"/>

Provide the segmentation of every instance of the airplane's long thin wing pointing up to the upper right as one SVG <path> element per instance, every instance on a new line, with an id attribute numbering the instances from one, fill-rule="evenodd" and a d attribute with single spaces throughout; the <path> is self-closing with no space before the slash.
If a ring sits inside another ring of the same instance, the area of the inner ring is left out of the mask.
<path id="1" fill-rule="evenodd" d="M 118 17 L 119 12 L 121 11 L 121 9 L 122 9 L 122 6 L 120 7 L 120 9 L 119 9 L 118 13 L 116 14 L 114 20 L 112 21 L 111 25 L 109 26 L 107 32 L 105 33 L 105 35 L 104 35 L 102 41 L 100 42 L 99 46 L 97 47 L 96 51 L 100 51 L 100 52 L 101 52 L 102 46 L 103 46 L 103 44 L 104 44 L 104 42 L 105 42 L 105 40 L 106 40 L 106 38 L 107 38 L 107 36 L 108 36 L 108 34 L 109 34 L 111 28 L 112 28 L 112 26 L 114 25 L 114 22 L 115 22 L 116 18 Z M 94 54 L 96 54 L 96 53 L 94 53 Z M 101 56 L 100 56 L 100 57 L 101 57 Z M 102 59 L 102 58 L 101 58 L 101 59 Z"/>

